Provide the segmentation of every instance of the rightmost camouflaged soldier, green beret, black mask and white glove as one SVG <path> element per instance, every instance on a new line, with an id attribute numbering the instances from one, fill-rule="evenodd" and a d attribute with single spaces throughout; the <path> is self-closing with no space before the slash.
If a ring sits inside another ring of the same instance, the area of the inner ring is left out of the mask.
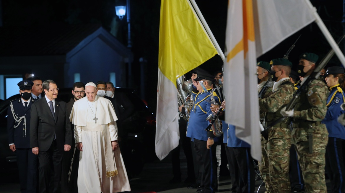
<path id="1" fill-rule="evenodd" d="M 317 59 L 313 53 L 300 56 L 298 73 L 304 77 L 302 85 L 315 69 Z M 325 83 L 314 79 L 301 94 L 294 110 L 281 111 L 283 116 L 293 117 L 292 143 L 296 145 L 306 192 L 327 192 L 324 173 L 328 132 L 321 123 L 327 112 L 327 96 Z"/>

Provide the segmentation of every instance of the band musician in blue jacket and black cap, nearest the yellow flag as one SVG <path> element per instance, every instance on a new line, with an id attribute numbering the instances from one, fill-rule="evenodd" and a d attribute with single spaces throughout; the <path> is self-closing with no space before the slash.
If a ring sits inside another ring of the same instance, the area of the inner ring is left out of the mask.
<path id="1" fill-rule="evenodd" d="M 215 92 L 210 93 L 212 90 L 212 82 L 214 76 L 210 75 L 207 71 L 198 69 L 196 88 L 199 91 L 193 94 L 194 107 L 190 112 L 189 122 L 187 126 L 187 137 L 192 138 L 194 141 L 194 149 L 196 151 L 196 164 L 203 168 L 200 188 L 197 191 L 202 193 L 214 193 L 217 190 L 217 165 L 216 165 L 216 148 L 212 148 L 214 144 L 213 138 L 207 137 L 205 128 L 209 122 L 206 118 L 211 114 L 211 104 L 206 100 L 211 100 L 213 94 L 215 101 L 219 103 L 220 99 Z"/>

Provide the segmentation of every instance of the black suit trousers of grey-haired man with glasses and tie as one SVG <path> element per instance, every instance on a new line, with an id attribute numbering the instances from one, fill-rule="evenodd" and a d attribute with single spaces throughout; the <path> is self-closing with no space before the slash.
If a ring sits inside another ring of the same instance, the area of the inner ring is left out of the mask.
<path id="1" fill-rule="evenodd" d="M 62 152 L 56 145 L 56 140 L 50 145 L 48 151 L 39 151 L 39 192 L 57 193 L 62 170 Z"/>

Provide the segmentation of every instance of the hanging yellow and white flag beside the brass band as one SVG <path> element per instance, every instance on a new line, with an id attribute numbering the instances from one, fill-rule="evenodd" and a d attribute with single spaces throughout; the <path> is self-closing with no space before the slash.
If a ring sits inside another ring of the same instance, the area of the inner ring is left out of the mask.
<path id="1" fill-rule="evenodd" d="M 156 155 L 178 146 L 176 79 L 217 54 L 189 0 L 161 0 Z"/>

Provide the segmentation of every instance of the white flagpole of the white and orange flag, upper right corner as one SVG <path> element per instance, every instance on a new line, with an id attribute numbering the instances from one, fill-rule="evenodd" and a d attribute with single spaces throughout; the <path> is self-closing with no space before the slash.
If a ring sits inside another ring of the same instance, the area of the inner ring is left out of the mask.
<path id="1" fill-rule="evenodd" d="M 335 54 L 337 55 L 338 59 L 340 60 L 340 62 L 343 64 L 343 66 L 345 66 L 344 54 L 340 50 L 340 48 L 337 45 L 337 43 L 334 41 L 331 33 L 329 33 L 329 31 L 327 30 L 327 27 L 323 23 L 323 21 L 320 18 L 319 14 L 317 14 L 316 8 L 313 6 L 313 4 L 309 0 L 305 0 L 305 2 L 309 5 L 310 10 L 313 12 L 313 15 L 315 17 L 315 22 L 319 26 L 319 29 L 321 30 L 321 32 L 326 37 L 329 45 L 331 45 L 331 47 L 333 48 L 333 50 L 334 50 Z"/>

